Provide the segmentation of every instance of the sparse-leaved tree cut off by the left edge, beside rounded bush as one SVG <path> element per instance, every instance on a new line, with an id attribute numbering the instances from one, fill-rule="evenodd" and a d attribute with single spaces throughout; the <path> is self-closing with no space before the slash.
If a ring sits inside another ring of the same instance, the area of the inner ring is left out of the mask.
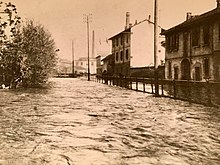
<path id="1" fill-rule="evenodd" d="M 1 81 L 13 83 L 20 76 L 20 62 L 18 47 L 14 45 L 17 33 L 16 26 L 20 23 L 15 5 L 0 2 L 0 70 Z M 17 42 L 18 43 L 18 42 Z"/>

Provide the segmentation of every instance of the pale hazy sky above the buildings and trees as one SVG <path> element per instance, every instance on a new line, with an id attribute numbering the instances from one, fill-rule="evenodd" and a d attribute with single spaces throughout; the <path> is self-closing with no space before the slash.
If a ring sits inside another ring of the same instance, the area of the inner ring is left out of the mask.
<path id="1" fill-rule="evenodd" d="M 8 2 L 8 1 L 4 1 Z M 58 56 L 72 57 L 74 40 L 75 58 L 87 56 L 87 29 L 84 14 L 92 14 L 90 39 L 95 32 L 96 52 L 110 52 L 106 39 L 124 30 L 126 12 L 131 23 L 151 15 L 154 0 L 11 0 L 23 20 L 33 19 L 52 34 Z M 202 14 L 216 7 L 216 0 L 158 0 L 159 24 L 164 29 L 185 21 L 186 13 Z M 152 32 L 153 33 L 153 32 Z M 90 42 L 91 43 L 91 42 Z M 91 47 L 91 45 L 90 45 Z"/>

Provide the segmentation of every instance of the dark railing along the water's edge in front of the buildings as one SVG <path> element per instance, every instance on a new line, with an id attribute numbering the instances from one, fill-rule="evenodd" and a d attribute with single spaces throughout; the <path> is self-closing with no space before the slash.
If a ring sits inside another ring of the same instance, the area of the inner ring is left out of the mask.
<path id="1" fill-rule="evenodd" d="M 130 90 L 155 94 L 155 80 L 140 77 L 97 76 L 96 81 Z M 159 79 L 159 96 L 189 102 L 220 106 L 220 82 Z"/>

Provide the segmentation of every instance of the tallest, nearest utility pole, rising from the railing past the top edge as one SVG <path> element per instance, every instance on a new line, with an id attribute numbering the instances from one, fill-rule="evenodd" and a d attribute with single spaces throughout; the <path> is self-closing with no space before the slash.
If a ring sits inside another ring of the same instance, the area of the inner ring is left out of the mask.
<path id="1" fill-rule="evenodd" d="M 158 0 L 154 0 L 154 74 L 155 74 L 155 96 L 159 96 L 158 84 L 158 41 L 159 41 L 159 27 L 158 27 Z"/>

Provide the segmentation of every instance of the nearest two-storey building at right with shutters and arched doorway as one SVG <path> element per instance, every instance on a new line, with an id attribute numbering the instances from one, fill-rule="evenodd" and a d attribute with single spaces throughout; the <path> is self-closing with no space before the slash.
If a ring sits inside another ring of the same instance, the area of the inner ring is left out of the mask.
<path id="1" fill-rule="evenodd" d="M 220 2 L 161 34 L 166 37 L 165 78 L 220 81 Z"/>

